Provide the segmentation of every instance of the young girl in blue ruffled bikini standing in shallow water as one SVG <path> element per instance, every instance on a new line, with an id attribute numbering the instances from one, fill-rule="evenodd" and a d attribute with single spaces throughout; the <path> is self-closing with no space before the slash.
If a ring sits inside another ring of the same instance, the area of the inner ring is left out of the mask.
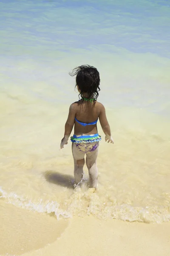
<path id="1" fill-rule="evenodd" d="M 111 130 L 106 118 L 105 107 L 97 102 L 100 90 L 99 72 L 95 67 L 89 65 L 80 66 L 70 74 L 76 76 L 76 86 L 81 99 L 71 104 L 65 133 L 60 148 L 68 144 L 68 138 L 74 126 L 74 135 L 71 137 L 72 153 L 74 158 L 75 183 L 81 182 L 83 177 L 83 166 L 86 165 L 89 172 L 91 188 L 97 188 L 97 155 L 101 136 L 97 133 L 97 121 L 99 118 L 102 130 L 105 133 L 105 141 L 113 143 Z"/>

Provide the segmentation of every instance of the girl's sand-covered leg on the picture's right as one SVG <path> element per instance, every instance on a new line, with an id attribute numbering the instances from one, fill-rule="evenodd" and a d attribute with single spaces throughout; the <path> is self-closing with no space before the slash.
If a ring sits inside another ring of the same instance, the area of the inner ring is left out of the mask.
<path id="1" fill-rule="evenodd" d="M 97 169 L 97 162 L 96 162 L 98 152 L 99 152 L 99 147 L 97 146 L 94 151 L 86 154 L 86 165 L 88 167 L 90 187 L 95 189 L 97 188 L 97 177 L 98 177 L 98 169 Z"/>

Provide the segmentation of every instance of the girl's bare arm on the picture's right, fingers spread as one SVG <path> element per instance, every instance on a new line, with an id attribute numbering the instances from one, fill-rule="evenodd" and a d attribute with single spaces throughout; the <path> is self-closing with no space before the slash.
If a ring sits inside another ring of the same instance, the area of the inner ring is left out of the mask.
<path id="1" fill-rule="evenodd" d="M 108 143 L 113 143 L 113 139 L 111 137 L 111 128 L 106 117 L 105 107 L 102 104 L 100 106 L 99 121 L 100 125 L 102 126 L 102 130 L 105 134 L 105 141 L 108 141 Z"/>

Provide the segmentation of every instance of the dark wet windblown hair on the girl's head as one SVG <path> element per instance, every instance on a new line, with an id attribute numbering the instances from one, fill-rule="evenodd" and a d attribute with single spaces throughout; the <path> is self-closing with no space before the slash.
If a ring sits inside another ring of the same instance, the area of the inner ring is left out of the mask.
<path id="1" fill-rule="evenodd" d="M 72 73 L 69 73 L 70 76 L 76 76 L 76 86 L 78 85 L 81 92 L 79 96 L 83 97 L 83 93 L 87 93 L 86 98 L 94 100 L 99 96 L 98 91 L 100 91 L 100 76 L 99 71 L 89 65 L 82 65 L 74 68 Z"/>

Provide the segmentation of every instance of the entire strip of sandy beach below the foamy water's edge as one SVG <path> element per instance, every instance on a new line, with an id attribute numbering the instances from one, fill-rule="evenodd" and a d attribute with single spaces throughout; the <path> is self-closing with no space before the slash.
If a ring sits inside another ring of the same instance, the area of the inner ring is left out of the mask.
<path id="1" fill-rule="evenodd" d="M 170 255 L 170 223 L 102 221 L 91 216 L 57 221 L 54 216 L 1 207 L 8 207 L 11 218 L 1 211 L 0 255 Z"/>

